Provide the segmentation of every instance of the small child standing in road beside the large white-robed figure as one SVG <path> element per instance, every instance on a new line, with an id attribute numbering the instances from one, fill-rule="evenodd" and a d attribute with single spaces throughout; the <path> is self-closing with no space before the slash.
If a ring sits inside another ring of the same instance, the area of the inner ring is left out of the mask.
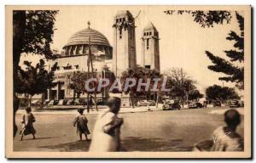
<path id="1" fill-rule="evenodd" d="M 84 115 L 83 109 L 79 109 L 78 112 L 79 112 L 79 115 L 75 118 L 73 122 L 73 126 L 77 126 L 77 132 L 79 132 L 80 140 L 82 140 L 82 134 L 84 133 L 86 141 L 88 141 L 89 139 L 87 138 L 87 135 L 90 134 L 90 131 L 87 126 L 88 120 Z"/>

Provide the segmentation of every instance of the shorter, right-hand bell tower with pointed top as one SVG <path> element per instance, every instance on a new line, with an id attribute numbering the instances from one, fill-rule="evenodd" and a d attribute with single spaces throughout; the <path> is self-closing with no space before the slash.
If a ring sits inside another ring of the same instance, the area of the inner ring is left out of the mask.
<path id="1" fill-rule="evenodd" d="M 160 71 L 159 40 L 158 31 L 152 22 L 149 22 L 143 30 L 142 37 L 143 67 Z"/>

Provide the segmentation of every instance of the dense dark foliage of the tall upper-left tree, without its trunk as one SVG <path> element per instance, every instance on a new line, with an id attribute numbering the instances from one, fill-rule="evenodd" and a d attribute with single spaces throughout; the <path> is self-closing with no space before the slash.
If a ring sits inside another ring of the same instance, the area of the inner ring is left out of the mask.
<path id="1" fill-rule="evenodd" d="M 50 43 L 54 34 L 55 10 L 18 10 L 14 11 L 19 15 L 22 24 L 18 35 L 22 35 L 22 42 L 15 44 L 20 47 L 20 53 L 41 54 L 51 57 Z"/>

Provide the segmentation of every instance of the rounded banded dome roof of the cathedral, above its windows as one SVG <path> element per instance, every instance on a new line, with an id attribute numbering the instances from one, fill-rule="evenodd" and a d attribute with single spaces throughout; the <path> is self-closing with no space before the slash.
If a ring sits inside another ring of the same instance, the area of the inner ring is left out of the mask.
<path id="1" fill-rule="evenodd" d="M 109 45 L 108 39 L 101 32 L 91 28 L 86 28 L 73 34 L 73 36 L 69 38 L 67 44 L 63 48 L 71 45 L 88 44 L 89 37 L 91 45 L 103 45 L 111 47 Z"/>

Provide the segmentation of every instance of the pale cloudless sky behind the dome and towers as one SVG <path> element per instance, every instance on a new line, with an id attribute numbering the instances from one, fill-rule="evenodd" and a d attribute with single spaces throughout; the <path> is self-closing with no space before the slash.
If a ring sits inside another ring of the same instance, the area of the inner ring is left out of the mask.
<path id="1" fill-rule="evenodd" d="M 125 9 L 125 7 L 62 6 L 55 18 L 56 30 L 51 48 L 61 51 L 69 37 L 75 32 L 87 28 L 88 21 L 90 21 L 90 28 L 102 32 L 113 45 L 113 18 L 120 9 Z M 131 14 L 137 17 L 135 20 L 137 64 L 141 63 L 143 28 L 151 21 L 159 31 L 161 71 L 169 68 L 183 68 L 197 82 L 197 86 L 202 92 L 213 84 L 222 86 L 223 82 L 219 81 L 218 77 L 223 75 L 207 69 L 207 66 L 211 65 L 211 61 L 207 58 L 205 51 L 208 50 L 227 59 L 224 50 L 233 49 L 234 42 L 227 41 L 225 37 L 230 31 L 239 31 L 235 12 L 232 12 L 230 24 L 202 28 L 201 25 L 193 21 L 190 14 L 167 15 L 163 12 L 166 9 L 172 9 L 172 7 L 145 6 L 129 9 Z M 33 58 L 38 58 L 38 56 L 34 55 Z M 224 86 L 233 87 L 234 84 L 224 82 Z"/>

